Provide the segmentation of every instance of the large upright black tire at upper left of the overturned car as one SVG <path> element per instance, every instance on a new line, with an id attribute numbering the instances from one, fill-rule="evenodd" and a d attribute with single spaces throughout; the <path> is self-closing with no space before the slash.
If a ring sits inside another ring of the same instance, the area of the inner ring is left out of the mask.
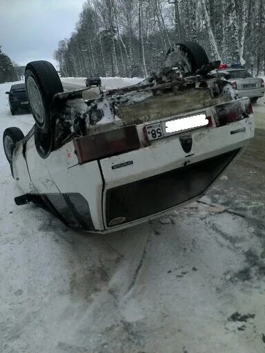
<path id="1" fill-rule="evenodd" d="M 52 99 L 55 94 L 63 92 L 59 74 L 49 61 L 31 61 L 26 65 L 25 83 L 35 123 L 41 132 L 48 133 Z"/>

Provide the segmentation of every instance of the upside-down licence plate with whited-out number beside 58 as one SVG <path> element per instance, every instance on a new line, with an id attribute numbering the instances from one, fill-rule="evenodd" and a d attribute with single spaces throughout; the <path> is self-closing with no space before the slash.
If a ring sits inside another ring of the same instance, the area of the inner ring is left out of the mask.
<path id="1" fill-rule="evenodd" d="M 159 123 L 146 125 L 146 134 L 148 141 L 152 141 L 161 139 L 162 137 L 168 137 L 173 134 L 179 134 L 179 132 L 202 128 L 207 126 L 208 123 L 209 121 L 206 119 L 206 114 L 200 113 L 189 117 L 170 119 L 167 121 L 160 121 Z"/>

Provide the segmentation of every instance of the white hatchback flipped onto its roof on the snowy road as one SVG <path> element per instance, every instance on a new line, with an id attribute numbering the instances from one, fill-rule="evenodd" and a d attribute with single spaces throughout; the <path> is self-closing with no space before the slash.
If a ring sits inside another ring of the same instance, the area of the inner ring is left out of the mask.
<path id="1" fill-rule="evenodd" d="M 35 126 L 3 134 L 17 205 L 112 232 L 198 199 L 254 135 L 249 99 L 236 99 L 218 65 L 179 43 L 160 72 L 84 101 L 83 89 L 63 92 L 50 63 L 28 63 Z"/>

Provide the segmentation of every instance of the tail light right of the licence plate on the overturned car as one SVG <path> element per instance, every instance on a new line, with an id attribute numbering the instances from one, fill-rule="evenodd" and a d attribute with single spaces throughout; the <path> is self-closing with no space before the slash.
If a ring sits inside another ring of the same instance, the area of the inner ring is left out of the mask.
<path id="1" fill-rule="evenodd" d="M 249 99 L 239 99 L 238 101 L 215 105 L 215 110 L 217 113 L 215 116 L 217 127 L 245 119 L 250 114 L 253 114 Z"/>

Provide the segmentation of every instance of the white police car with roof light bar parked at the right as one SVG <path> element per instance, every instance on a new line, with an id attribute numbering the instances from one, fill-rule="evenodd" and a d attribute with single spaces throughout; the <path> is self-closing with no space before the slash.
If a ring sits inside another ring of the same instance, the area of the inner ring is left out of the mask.
<path id="1" fill-rule="evenodd" d="M 238 98 L 249 97 L 252 103 L 264 96 L 264 80 L 253 77 L 243 68 L 228 68 L 227 65 L 220 65 L 220 70 L 227 72 L 226 79 L 230 81 L 235 89 Z"/>

